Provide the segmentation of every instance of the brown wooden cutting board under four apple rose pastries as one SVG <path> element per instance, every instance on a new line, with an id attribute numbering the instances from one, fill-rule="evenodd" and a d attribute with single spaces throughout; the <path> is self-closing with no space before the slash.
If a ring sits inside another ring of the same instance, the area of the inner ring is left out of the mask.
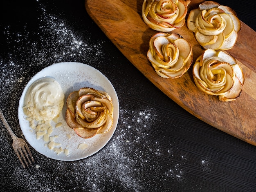
<path id="1" fill-rule="evenodd" d="M 189 71 L 177 79 L 161 78 L 156 74 L 146 53 L 150 37 L 157 31 L 150 29 L 142 20 L 142 2 L 85 0 L 85 7 L 90 17 L 124 56 L 164 94 L 209 125 L 256 145 L 256 32 L 242 22 L 236 45 L 227 51 L 242 67 L 245 84 L 239 98 L 221 102 L 217 96 L 204 94 L 195 86 L 193 64 Z M 200 2 L 202 0 L 191 0 L 189 11 L 197 8 Z M 172 32 L 191 43 L 194 61 L 202 54 L 201 46 L 186 26 Z"/>

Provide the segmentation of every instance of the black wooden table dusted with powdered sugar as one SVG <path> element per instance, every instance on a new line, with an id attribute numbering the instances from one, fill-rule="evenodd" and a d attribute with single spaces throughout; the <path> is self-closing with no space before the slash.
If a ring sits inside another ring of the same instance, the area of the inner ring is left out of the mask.
<path id="1" fill-rule="evenodd" d="M 253 0 L 218 2 L 256 30 Z M 2 1 L 0 10 L 0 107 L 17 136 L 24 138 L 18 101 L 25 85 L 54 63 L 98 69 L 120 105 L 117 129 L 102 150 L 66 162 L 31 148 L 39 168 L 22 167 L 1 122 L 0 191 L 256 191 L 256 147 L 164 95 L 108 40 L 83 0 Z"/>

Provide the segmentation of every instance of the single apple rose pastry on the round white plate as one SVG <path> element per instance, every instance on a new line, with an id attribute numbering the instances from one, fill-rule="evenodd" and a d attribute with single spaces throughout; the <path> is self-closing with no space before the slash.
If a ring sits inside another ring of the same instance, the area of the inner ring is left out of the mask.
<path id="1" fill-rule="evenodd" d="M 81 88 L 67 98 L 67 125 L 82 138 L 108 132 L 113 125 L 113 105 L 108 93 Z"/>

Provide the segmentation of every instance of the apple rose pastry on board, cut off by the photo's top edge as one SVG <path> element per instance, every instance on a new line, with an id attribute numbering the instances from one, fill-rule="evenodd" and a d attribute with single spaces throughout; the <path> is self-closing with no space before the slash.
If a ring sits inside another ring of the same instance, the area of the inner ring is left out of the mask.
<path id="1" fill-rule="evenodd" d="M 144 0 L 142 18 L 156 31 L 169 32 L 185 24 L 187 6 L 184 0 Z"/>

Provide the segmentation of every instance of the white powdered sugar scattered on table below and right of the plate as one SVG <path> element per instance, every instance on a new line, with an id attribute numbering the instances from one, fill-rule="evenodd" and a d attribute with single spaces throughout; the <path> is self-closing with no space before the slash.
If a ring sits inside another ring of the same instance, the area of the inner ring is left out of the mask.
<path id="1" fill-rule="evenodd" d="M 37 162 L 40 167 L 32 174 L 24 172 L 20 166 L 11 173 L 14 178 L 29 178 L 29 182 L 35 185 L 27 187 L 28 181 L 24 179 L 18 183 L 18 179 L 13 179 L 16 183 L 11 184 L 29 188 L 27 191 L 54 191 L 67 185 L 75 191 L 139 192 L 157 184 L 154 183 L 155 178 L 163 183 L 169 179 L 185 181 L 182 167 L 186 157 L 180 156 L 180 159 L 175 160 L 177 162 L 173 161 L 171 145 L 168 148 L 161 148 L 158 142 L 151 139 L 155 132 L 153 127 L 156 118 L 152 109 L 131 111 L 121 108 L 116 132 L 102 150 L 87 159 L 69 162 L 68 165 L 63 161 L 49 161 L 42 156 Z M 169 163 L 161 164 L 161 161 Z M 57 175 L 54 183 L 50 182 L 50 173 L 42 172 L 46 167 L 54 168 Z M 159 174 L 160 172 L 165 174 Z M 150 176 L 145 180 L 147 174 Z"/>

